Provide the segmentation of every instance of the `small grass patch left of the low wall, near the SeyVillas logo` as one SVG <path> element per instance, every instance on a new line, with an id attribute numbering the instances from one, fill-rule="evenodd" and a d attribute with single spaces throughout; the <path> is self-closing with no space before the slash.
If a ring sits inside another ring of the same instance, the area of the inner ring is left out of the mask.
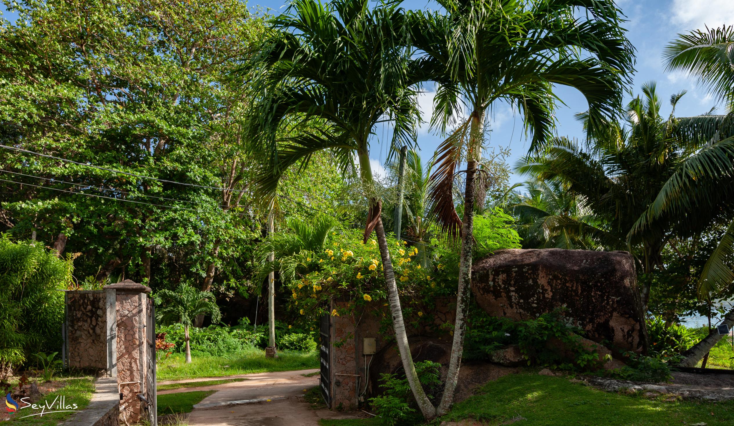
<path id="1" fill-rule="evenodd" d="M 59 380 L 59 379 L 54 379 Z M 82 410 L 86 407 L 90 400 L 92 400 L 92 394 L 94 393 L 94 384 L 92 378 L 68 378 L 64 379 L 67 381 L 67 385 L 58 391 L 51 392 L 43 395 L 39 402 L 36 404 L 43 404 L 48 402 L 51 404 L 57 397 L 65 397 L 66 405 L 76 404 L 77 410 Z M 24 404 L 21 404 L 24 405 Z M 57 408 L 52 408 L 57 409 Z M 76 413 L 51 413 L 43 414 L 43 416 L 32 416 L 21 419 L 23 416 L 29 414 L 38 414 L 40 410 L 33 410 L 32 408 L 21 408 L 17 413 L 13 414 L 13 418 L 9 424 L 12 425 L 32 425 L 32 426 L 54 426 L 58 425 L 62 420 L 73 416 Z"/>

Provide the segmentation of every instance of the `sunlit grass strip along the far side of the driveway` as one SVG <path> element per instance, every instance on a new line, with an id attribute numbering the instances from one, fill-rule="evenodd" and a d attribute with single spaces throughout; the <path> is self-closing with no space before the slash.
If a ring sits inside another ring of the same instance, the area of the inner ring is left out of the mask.
<path id="1" fill-rule="evenodd" d="M 264 350 L 253 348 L 225 356 L 192 355 L 192 363 L 186 364 L 177 353 L 159 362 L 158 381 L 319 368 L 313 352 L 283 351 L 278 357 L 265 358 Z"/>

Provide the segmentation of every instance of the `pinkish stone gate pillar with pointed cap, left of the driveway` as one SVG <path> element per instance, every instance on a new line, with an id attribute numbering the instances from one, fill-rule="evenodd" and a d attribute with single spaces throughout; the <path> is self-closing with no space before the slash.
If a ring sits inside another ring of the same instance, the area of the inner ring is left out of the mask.
<path id="1" fill-rule="evenodd" d="M 142 418 L 145 402 L 138 394 L 145 393 L 145 311 L 150 287 L 125 280 L 104 287 L 115 291 L 117 311 L 117 386 L 120 400 L 120 420 L 130 424 Z"/>

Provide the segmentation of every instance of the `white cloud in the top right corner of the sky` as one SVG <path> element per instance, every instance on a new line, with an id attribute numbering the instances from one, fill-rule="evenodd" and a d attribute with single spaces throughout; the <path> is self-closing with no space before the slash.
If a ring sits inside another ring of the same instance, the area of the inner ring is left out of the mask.
<path id="1" fill-rule="evenodd" d="M 734 24 L 732 0 L 673 0 L 670 20 L 683 31 Z"/>

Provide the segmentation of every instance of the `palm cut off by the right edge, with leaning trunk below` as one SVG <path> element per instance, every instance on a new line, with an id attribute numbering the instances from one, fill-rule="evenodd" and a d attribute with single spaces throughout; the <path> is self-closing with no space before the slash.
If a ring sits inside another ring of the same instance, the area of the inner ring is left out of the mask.
<path id="1" fill-rule="evenodd" d="M 668 71 L 686 71 L 697 76 L 710 93 L 724 101 L 727 115 L 701 115 L 683 119 L 696 136 L 694 154 L 670 176 L 658 197 L 633 229 L 633 235 L 655 227 L 661 217 L 680 217 L 690 228 L 710 224 L 716 217 L 734 217 L 734 26 L 722 26 L 679 34 L 664 50 Z M 690 214 L 695 211 L 697 214 Z M 701 298 L 716 295 L 731 286 L 734 271 L 734 221 L 706 262 L 699 278 Z M 734 325 L 734 310 L 723 324 Z M 697 364 L 722 338 L 716 331 L 691 347 L 680 365 Z"/>

